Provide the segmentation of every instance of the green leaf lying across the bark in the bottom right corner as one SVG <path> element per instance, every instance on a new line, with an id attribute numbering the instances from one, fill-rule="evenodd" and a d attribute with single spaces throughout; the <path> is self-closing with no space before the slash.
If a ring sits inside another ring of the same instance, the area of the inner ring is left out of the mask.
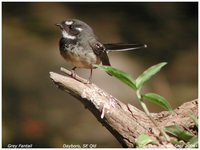
<path id="1" fill-rule="evenodd" d="M 180 140 L 188 142 L 191 138 L 193 138 L 193 135 L 189 133 L 188 131 L 184 130 L 182 127 L 178 125 L 172 125 L 165 127 L 164 130 L 167 133 L 172 134 L 173 136 L 177 137 Z"/>

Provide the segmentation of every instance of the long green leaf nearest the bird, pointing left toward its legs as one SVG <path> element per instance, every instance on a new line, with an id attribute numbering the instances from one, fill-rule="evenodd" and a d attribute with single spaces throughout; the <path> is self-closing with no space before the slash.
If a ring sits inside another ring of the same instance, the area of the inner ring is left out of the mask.
<path id="1" fill-rule="evenodd" d="M 94 65 L 94 66 L 101 70 L 106 71 L 108 74 L 113 75 L 114 77 L 116 77 L 120 81 L 124 82 L 125 84 L 127 84 L 128 86 L 133 88 L 134 90 L 137 89 L 135 80 L 131 77 L 130 74 L 128 74 L 124 71 L 121 71 L 119 69 L 113 68 L 111 66 L 102 66 L 102 65 Z"/>

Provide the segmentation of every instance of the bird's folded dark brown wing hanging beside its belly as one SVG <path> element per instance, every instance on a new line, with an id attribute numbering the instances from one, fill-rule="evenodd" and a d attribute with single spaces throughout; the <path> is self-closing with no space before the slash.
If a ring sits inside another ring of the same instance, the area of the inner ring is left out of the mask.
<path id="1" fill-rule="evenodd" d="M 102 61 L 102 64 L 106 66 L 111 66 L 104 45 L 98 41 L 90 41 L 89 44 L 93 49 L 94 53 L 97 55 L 97 57 L 99 57 L 100 60 Z"/>

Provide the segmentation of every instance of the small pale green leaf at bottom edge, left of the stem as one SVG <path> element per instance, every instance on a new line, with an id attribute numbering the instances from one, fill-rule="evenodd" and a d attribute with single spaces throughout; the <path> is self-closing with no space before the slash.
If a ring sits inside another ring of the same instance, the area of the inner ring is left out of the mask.
<path id="1" fill-rule="evenodd" d="M 137 139 L 136 139 L 136 145 L 138 148 L 144 147 L 146 144 L 152 143 L 153 140 L 146 134 L 141 134 Z M 155 143 L 155 142 L 153 142 Z"/>

